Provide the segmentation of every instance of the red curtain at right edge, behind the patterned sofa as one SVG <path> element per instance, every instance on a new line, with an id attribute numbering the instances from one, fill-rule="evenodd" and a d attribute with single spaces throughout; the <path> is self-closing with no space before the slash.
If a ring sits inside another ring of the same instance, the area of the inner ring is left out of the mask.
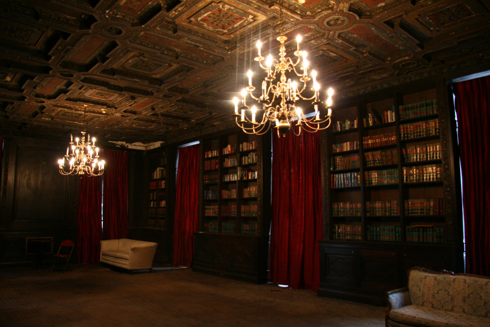
<path id="1" fill-rule="evenodd" d="M 454 84 L 465 206 L 466 272 L 490 276 L 490 76 Z"/>

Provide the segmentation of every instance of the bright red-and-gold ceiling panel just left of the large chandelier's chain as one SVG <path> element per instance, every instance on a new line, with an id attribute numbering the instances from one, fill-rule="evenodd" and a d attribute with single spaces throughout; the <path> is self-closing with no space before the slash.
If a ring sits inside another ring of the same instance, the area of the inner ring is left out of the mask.
<path id="1" fill-rule="evenodd" d="M 253 15 L 223 2 L 211 2 L 189 18 L 189 23 L 219 34 L 230 34 L 254 21 Z"/>

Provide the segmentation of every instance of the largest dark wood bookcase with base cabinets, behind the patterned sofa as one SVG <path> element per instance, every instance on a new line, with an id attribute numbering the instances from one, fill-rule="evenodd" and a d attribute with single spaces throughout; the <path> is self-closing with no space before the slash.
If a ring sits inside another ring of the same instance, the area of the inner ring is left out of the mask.
<path id="1" fill-rule="evenodd" d="M 461 271 L 450 108 L 440 83 L 335 110 L 322 135 L 319 295 L 382 305 L 412 266 Z"/>

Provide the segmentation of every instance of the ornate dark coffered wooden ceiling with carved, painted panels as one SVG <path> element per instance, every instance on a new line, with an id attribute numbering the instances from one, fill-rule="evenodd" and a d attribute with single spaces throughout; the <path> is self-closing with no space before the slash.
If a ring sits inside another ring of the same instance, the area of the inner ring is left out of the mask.
<path id="1" fill-rule="evenodd" d="M 490 61 L 487 0 L 282 2 L 288 54 L 301 34 L 321 84 L 344 97 Z M 0 0 L 0 133 L 148 143 L 232 126 L 257 40 L 277 56 L 279 8 Z"/>

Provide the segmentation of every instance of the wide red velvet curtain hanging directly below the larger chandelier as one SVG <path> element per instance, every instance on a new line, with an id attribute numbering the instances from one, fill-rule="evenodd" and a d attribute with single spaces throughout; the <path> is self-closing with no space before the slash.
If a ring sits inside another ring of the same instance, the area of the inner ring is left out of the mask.
<path id="1" fill-rule="evenodd" d="M 320 133 L 272 133 L 270 281 L 317 291 L 323 238 Z"/>

